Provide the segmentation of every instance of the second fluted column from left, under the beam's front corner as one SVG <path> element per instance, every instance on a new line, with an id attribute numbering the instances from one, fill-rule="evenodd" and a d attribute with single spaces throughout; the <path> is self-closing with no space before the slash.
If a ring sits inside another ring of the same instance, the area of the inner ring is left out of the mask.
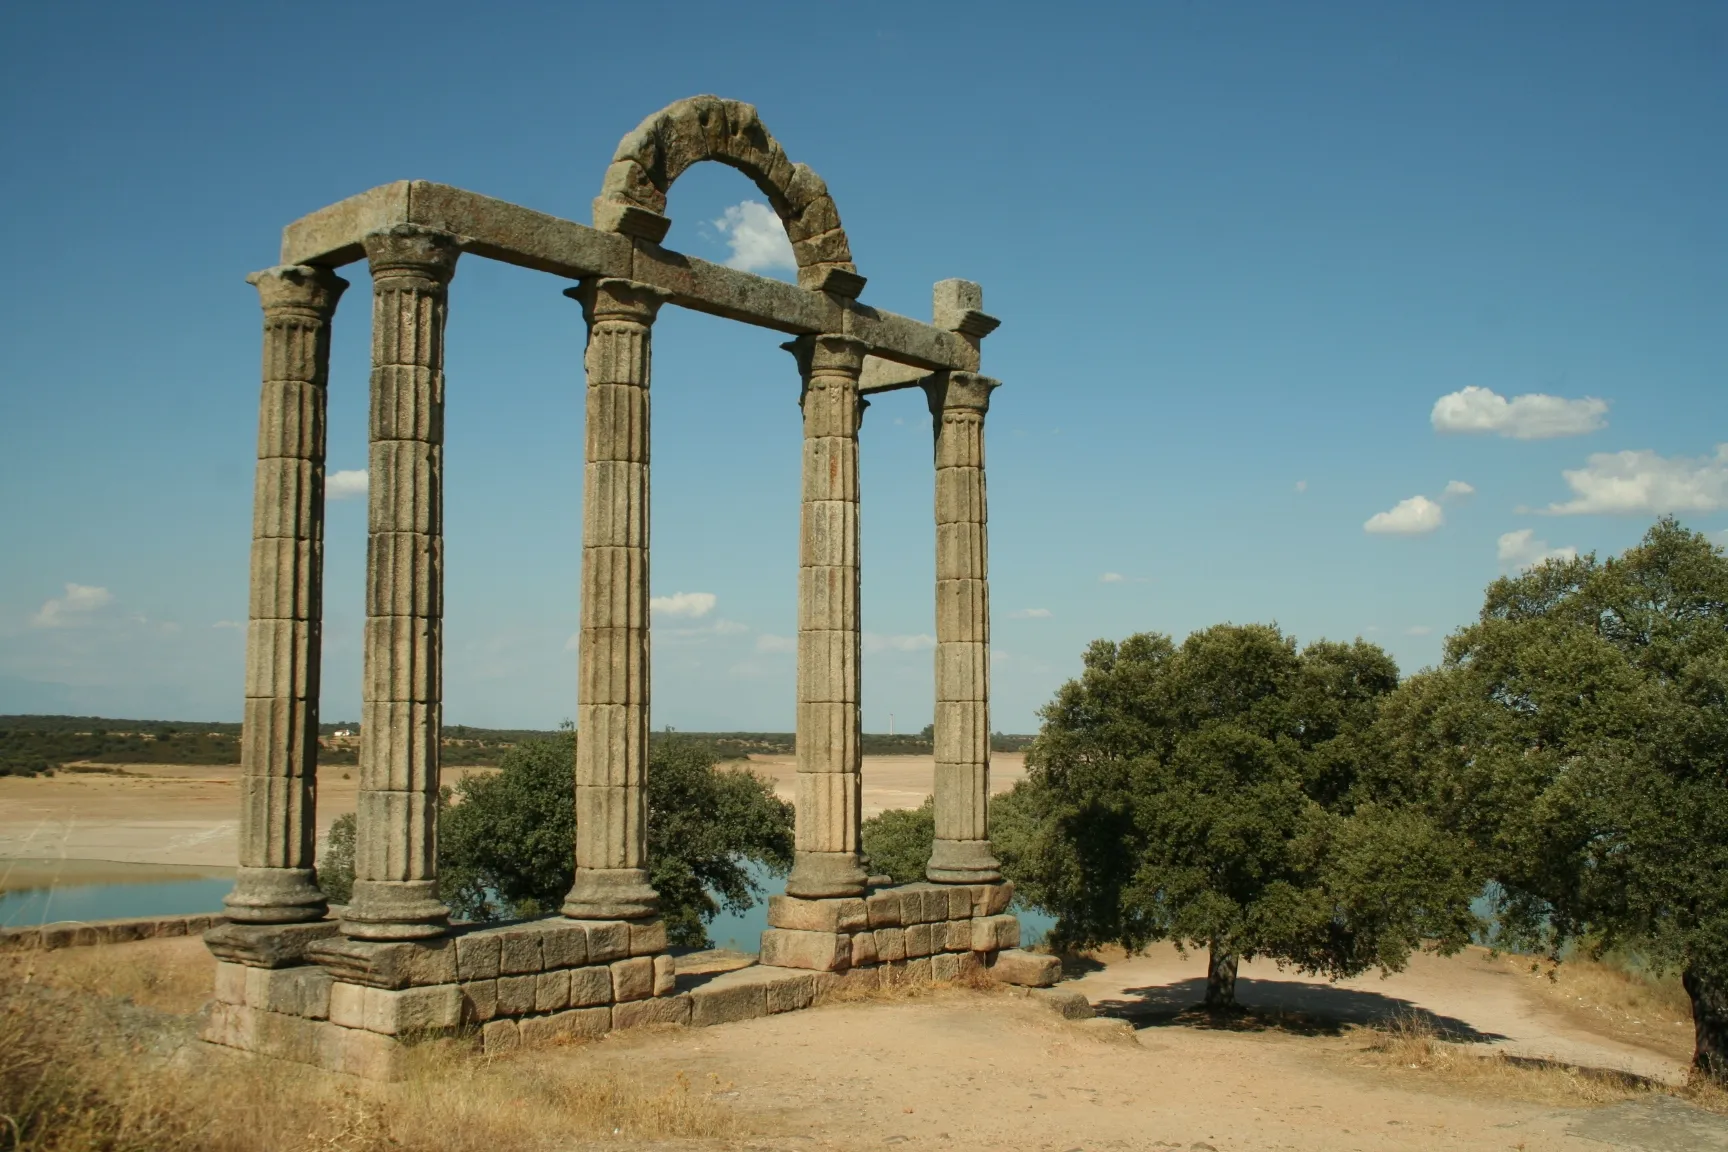
<path id="1" fill-rule="evenodd" d="M 399 225 L 372 266 L 372 454 L 354 898 L 342 931 L 437 936 L 444 615 L 444 313 L 454 237 Z"/>

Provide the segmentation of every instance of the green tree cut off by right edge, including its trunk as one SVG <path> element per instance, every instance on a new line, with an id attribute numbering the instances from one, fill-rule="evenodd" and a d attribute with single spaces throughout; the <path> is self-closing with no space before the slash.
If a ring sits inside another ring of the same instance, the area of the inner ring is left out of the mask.
<path id="1" fill-rule="evenodd" d="M 1384 729 L 1496 883 L 1500 940 L 1678 969 L 1693 1066 L 1728 1079 L 1728 558 L 1662 520 L 1495 580 Z"/>

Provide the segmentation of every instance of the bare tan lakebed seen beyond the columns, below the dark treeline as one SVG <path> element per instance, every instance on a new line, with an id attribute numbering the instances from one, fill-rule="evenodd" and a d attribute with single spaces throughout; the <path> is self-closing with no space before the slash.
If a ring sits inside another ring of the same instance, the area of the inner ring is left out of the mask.
<path id="1" fill-rule="evenodd" d="M 238 851 L 238 765 L 105 765 L 52 777 L 0 777 L 0 860 L 109 860 L 149 865 L 233 867 Z M 791 756 L 752 756 L 750 767 L 791 800 Z M 444 781 L 489 769 L 446 767 Z M 864 756 L 864 813 L 916 808 L 930 794 L 930 756 Z M 992 758 L 997 791 L 1025 775 L 1020 753 Z M 354 810 L 354 767 L 318 772 L 318 834 Z M 133 874 L 131 879 L 168 879 Z M 62 877 L 64 883 L 64 877 Z M 97 883 L 97 881 L 85 881 Z M 22 886 L 22 884 L 12 884 Z"/>

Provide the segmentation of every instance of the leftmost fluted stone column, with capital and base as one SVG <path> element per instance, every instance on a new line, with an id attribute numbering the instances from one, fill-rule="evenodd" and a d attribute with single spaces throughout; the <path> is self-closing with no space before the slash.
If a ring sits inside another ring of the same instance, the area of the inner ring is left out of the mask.
<path id="1" fill-rule="evenodd" d="M 316 921 L 318 641 L 323 615 L 328 268 L 252 273 L 264 307 L 264 387 L 252 484 L 252 589 L 240 744 L 240 869 L 225 900 L 251 924 Z"/>

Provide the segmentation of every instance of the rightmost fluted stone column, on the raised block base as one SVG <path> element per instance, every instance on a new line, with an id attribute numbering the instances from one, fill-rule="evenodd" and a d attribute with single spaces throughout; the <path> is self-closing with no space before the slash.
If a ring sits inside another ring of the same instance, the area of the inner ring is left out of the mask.
<path id="1" fill-rule="evenodd" d="M 983 416 L 997 382 L 969 371 L 928 387 L 937 434 L 937 839 L 926 876 L 1002 879 L 990 853 L 990 549 Z"/>

